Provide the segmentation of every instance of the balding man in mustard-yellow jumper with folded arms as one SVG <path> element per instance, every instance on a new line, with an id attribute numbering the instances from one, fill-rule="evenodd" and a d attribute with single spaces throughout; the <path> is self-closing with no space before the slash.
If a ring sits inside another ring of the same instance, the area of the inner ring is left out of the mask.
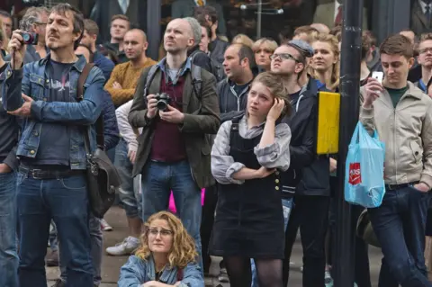
<path id="1" fill-rule="evenodd" d="M 142 69 L 157 63 L 146 56 L 147 48 L 147 35 L 144 31 L 131 29 L 124 35 L 123 49 L 129 61 L 114 67 L 105 85 L 116 108 L 132 99 Z"/>

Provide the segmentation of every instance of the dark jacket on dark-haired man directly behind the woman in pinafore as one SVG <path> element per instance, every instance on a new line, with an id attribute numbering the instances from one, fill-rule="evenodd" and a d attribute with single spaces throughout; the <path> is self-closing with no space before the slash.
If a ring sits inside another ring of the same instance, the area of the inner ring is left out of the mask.
<path id="1" fill-rule="evenodd" d="M 216 93 L 219 96 L 220 123 L 230 121 L 246 110 L 249 85 L 240 94 L 235 94 L 231 85 L 235 84 L 227 78 L 216 86 Z"/>

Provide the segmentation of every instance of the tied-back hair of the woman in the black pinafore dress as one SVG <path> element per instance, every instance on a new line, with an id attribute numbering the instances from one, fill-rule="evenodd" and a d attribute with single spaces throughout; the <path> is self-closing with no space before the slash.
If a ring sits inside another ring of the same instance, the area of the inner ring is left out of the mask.
<path id="1" fill-rule="evenodd" d="M 285 102 L 285 108 L 284 112 L 282 112 L 281 117 L 284 117 L 285 115 L 290 115 L 292 112 L 292 106 L 290 102 L 290 98 L 288 96 L 288 90 L 286 89 L 286 86 L 284 84 L 284 78 L 279 75 L 275 75 L 271 72 L 264 72 L 259 74 L 254 81 L 252 82 L 251 86 L 261 83 L 263 85 L 266 85 L 266 87 L 270 90 L 270 93 L 275 97 L 275 99 L 281 99 Z"/>

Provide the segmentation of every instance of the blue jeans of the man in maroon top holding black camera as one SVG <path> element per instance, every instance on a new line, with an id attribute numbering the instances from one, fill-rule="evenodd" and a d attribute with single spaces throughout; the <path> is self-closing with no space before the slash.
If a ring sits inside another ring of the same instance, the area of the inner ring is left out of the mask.
<path id="1" fill-rule="evenodd" d="M 184 228 L 193 237 L 196 251 L 201 255 L 201 189 L 193 180 L 187 161 L 178 163 L 148 162 L 142 174 L 142 220 L 158 211 L 168 209 L 170 191 L 173 191 L 177 214 Z"/>

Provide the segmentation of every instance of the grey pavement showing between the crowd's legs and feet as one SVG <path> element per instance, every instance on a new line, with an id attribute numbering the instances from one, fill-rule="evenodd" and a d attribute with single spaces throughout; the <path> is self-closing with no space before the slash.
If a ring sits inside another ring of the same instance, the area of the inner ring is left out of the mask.
<path id="1" fill-rule="evenodd" d="M 124 211 L 119 207 L 112 207 L 104 218 L 111 226 L 112 231 L 103 233 L 103 250 L 106 247 L 112 247 L 121 242 L 123 238 L 128 236 L 128 223 Z M 378 285 L 378 274 L 381 266 L 381 250 L 375 247 L 369 248 L 369 260 L 371 267 L 372 285 Z M 120 274 L 121 265 L 124 265 L 128 256 L 107 256 L 103 255 L 102 266 L 102 284 L 100 287 L 115 287 Z M 211 277 L 205 278 L 205 286 L 217 286 L 219 283 L 217 275 L 219 274 L 220 258 L 212 258 L 212 265 L 210 274 Z M 291 261 L 293 262 L 292 271 L 290 273 L 290 287 L 302 287 L 302 244 L 299 240 L 293 247 L 293 254 Z M 57 267 L 47 267 L 48 286 L 55 283 L 58 278 L 59 272 Z M 324 276 L 324 274 L 323 274 Z M 222 283 L 223 287 L 229 287 L 229 283 Z"/>

